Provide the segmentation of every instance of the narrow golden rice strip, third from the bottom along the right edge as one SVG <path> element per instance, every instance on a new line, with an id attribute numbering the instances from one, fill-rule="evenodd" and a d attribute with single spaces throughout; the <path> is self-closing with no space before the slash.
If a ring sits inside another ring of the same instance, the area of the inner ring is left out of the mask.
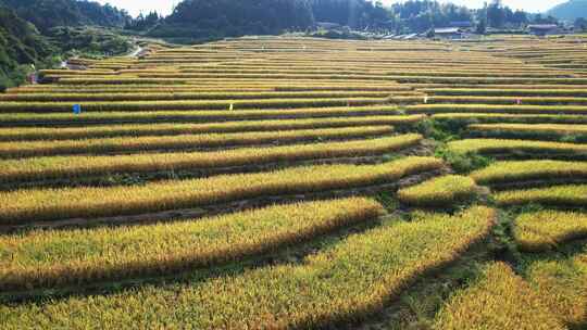
<path id="1" fill-rule="evenodd" d="M 526 190 L 511 190 L 494 194 L 497 202 L 503 206 L 536 203 L 552 206 L 587 205 L 587 186 L 554 186 Z"/>

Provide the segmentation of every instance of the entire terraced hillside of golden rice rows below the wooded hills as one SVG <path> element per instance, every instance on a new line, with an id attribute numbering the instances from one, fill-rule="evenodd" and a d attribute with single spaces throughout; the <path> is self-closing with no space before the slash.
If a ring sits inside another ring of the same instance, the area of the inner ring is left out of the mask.
<path id="1" fill-rule="evenodd" d="M 75 64 L 0 94 L 1 329 L 587 327 L 587 38 Z"/>

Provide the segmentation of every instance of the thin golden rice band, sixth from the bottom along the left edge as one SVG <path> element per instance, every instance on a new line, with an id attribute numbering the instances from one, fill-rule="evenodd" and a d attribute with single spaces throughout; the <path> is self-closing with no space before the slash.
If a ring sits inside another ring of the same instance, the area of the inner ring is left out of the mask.
<path id="1" fill-rule="evenodd" d="M 245 120 L 207 124 L 139 124 L 100 125 L 84 127 L 15 127 L 0 128 L 0 141 L 68 140 L 113 137 L 154 137 L 188 134 L 221 134 L 273 131 L 294 129 L 320 129 L 335 127 L 398 125 L 407 126 L 421 122 L 423 115 L 413 116 L 359 116 L 348 118 L 310 118 L 279 120 Z"/>

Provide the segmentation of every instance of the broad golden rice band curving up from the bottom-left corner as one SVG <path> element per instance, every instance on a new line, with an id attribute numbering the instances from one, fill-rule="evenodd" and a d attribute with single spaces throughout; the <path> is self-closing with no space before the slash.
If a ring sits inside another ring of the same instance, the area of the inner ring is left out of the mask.
<path id="1" fill-rule="evenodd" d="M 496 213 L 473 207 L 353 234 L 303 263 L 109 295 L 0 306 L 7 329 L 128 327 L 321 328 L 380 310 L 423 272 L 485 238 Z M 100 310 L 100 313 L 96 313 Z M 71 317 L 75 315 L 76 317 Z"/>

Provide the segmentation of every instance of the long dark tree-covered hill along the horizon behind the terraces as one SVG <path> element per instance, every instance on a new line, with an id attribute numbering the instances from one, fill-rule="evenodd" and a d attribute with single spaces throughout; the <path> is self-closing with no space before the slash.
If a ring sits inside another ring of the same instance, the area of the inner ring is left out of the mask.
<path id="1" fill-rule="evenodd" d="M 139 20 L 151 37 L 195 42 L 243 35 L 270 35 L 336 23 L 358 30 L 396 34 L 425 33 L 453 22 L 497 29 L 523 28 L 533 15 L 514 11 L 500 1 L 478 10 L 435 0 L 408 0 L 384 7 L 366 0 L 185 0 L 166 18 L 151 14 Z M 151 24 L 147 24 L 151 22 Z M 154 27 L 153 27 L 154 26 Z M 136 29 L 136 28 L 134 28 Z"/>

